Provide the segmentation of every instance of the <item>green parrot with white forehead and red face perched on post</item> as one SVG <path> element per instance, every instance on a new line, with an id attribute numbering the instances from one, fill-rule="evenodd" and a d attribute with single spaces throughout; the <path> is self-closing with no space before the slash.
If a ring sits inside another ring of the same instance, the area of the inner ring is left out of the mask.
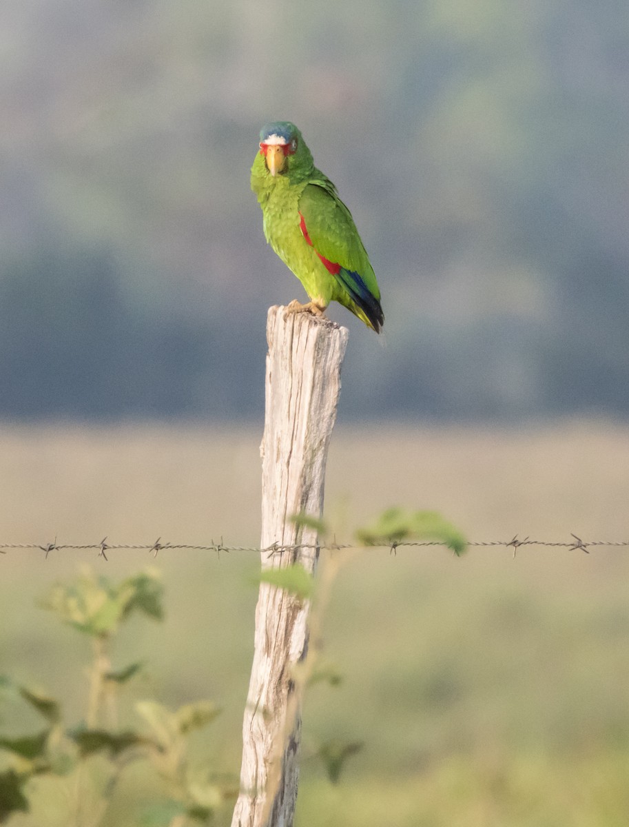
<path id="1" fill-rule="evenodd" d="M 293 123 L 269 123 L 260 131 L 251 189 L 267 242 L 310 297 L 307 304 L 291 302 L 288 311 L 321 316 L 336 301 L 379 333 L 380 290 L 354 220 Z"/>

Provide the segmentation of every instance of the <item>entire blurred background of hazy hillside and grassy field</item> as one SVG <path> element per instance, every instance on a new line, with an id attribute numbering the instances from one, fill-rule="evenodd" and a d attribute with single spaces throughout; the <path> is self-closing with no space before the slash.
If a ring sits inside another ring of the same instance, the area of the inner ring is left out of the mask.
<path id="1" fill-rule="evenodd" d="M 398 505 L 474 541 L 629 539 L 627 0 L 2 0 L 0 65 L 0 543 L 259 542 L 266 312 L 304 296 L 249 187 L 278 118 L 383 292 L 386 347 L 330 309 L 336 538 Z M 629 555 L 589 551 L 350 557 L 298 825 L 626 827 Z M 114 654 L 145 662 L 128 715 L 212 697 L 199 753 L 236 779 L 258 556 L 107 555 L 0 556 L 0 673 L 79 722 L 87 648 L 34 602 L 157 566 L 166 621 Z M 364 743 L 338 787 L 334 737 Z M 132 778 L 102 827 L 162 794 Z M 12 827 L 67 827 L 39 805 Z"/>

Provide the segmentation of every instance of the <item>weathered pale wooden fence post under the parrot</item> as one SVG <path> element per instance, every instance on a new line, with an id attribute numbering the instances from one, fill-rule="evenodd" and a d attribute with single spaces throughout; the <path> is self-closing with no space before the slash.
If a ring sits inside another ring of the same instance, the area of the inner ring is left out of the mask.
<path id="1" fill-rule="evenodd" d="M 309 313 L 269 308 L 262 455 L 262 567 L 295 562 L 314 573 L 317 532 L 291 521 L 320 518 L 327 450 L 341 390 L 348 331 Z M 293 667 L 306 656 L 307 602 L 260 584 L 245 720 L 241 791 L 232 827 L 291 827 L 297 799 L 301 730 Z"/>

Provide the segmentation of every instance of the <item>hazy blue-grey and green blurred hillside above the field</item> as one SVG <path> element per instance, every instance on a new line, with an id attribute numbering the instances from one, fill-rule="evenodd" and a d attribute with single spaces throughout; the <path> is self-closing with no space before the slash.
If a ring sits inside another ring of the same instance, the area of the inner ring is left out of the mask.
<path id="1" fill-rule="evenodd" d="M 619 0 L 7 0 L 0 415 L 251 418 L 302 288 L 249 191 L 289 118 L 354 214 L 388 347 L 342 415 L 629 414 Z"/>

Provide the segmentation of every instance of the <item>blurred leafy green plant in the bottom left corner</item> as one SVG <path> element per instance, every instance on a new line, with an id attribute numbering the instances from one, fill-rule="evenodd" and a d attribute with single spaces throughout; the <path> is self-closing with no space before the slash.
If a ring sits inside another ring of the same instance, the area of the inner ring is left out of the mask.
<path id="1" fill-rule="evenodd" d="M 12 693 L 44 720 L 34 734 L 0 737 L 0 823 L 13 813 L 28 812 L 36 795 L 36 779 L 64 785 L 68 814 L 64 823 L 98 827 L 114 799 L 118 782 L 131 763 L 146 762 L 160 777 L 164 795 L 146 811 L 150 827 L 206 824 L 231 786 L 217 783 L 191 767 L 188 738 L 210 724 L 220 710 L 199 700 L 177 710 L 155 700 L 135 705 L 137 726 L 118 729 L 117 705 L 122 686 L 141 673 L 142 662 L 112 667 L 112 645 L 132 614 L 164 618 L 163 587 L 157 571 L 145 571 L 119 583 L 83 571 L 74 581 L 54 586 L 42 604 L 59 619 L 86 635 L 92 644 L 85 720 L 70 727 L 60 701 L 41 691 L 0 678 Z M 105 772 L 103 772 L 103 764 Z M 86 806 L 85 801 L 97 800 Z"/>

